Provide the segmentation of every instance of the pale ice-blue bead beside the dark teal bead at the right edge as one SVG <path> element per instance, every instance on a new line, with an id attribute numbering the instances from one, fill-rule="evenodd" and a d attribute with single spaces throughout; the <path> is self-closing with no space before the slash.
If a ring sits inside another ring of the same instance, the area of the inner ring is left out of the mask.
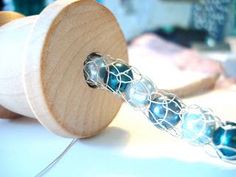
<path id="1" fill-rule="evenodd" d="M 183 138 L 196 143 L 208 144 L 216 128 L 214 116 L 200 107 L 188 107 L 182 114 L 181 123 Z"/>

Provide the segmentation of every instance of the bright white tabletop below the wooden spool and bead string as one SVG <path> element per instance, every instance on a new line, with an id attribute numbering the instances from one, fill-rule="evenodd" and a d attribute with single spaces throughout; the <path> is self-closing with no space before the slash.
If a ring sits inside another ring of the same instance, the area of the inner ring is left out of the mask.
<path id="1" fill-rule="evenodd" d="M 70 143 L 33 119 L 0 120 L 0 176 L 30 177 Z M 236 166 L 157 130 L 123 104 L 98 136 L 78 141 L 49 177 L 233 177 Z"/>

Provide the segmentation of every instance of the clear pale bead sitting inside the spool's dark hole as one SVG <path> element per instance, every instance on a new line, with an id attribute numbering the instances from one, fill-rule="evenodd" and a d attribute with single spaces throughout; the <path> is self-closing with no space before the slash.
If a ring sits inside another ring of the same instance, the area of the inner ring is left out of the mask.
<path id="1" fill-rule="evenodd" d="M 106 75 L 106 63 L 100 55 L 93 55 L 84 64 L 84 77 L 91 87 L 102 84 Z"/>

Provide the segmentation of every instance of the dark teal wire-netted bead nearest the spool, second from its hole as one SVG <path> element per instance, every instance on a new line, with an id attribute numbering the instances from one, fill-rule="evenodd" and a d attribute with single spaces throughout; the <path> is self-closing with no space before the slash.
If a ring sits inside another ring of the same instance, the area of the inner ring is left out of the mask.
<path id="1" fill-rule="evenodd" d="M 120 62 L 113 63 L 108 67 L 104 83 L 113 92 L 124 92 L 129 82 L 133 80 L 133 73 L 128 65 Z"/>

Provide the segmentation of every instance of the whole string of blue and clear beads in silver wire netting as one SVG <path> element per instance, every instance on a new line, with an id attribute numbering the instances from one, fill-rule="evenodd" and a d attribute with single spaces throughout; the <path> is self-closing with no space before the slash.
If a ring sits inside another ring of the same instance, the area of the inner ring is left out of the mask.
<path id="1" fill-rule="evenodd" d="M 236 162 L 236 123 L 222 122 L 210 109 L 185 105 L 120 59 L 92 53 L 84 62 L 84 77 L 90 87 L 111 91 L 142 111 L 155 127 Z"/>

